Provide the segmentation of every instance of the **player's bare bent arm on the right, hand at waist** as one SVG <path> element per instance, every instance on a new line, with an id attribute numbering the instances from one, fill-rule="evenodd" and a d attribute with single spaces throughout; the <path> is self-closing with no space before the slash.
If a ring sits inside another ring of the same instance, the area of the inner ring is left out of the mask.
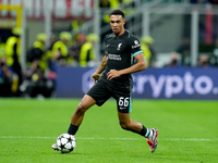
<path id="1" fill-rule="evenodd" d="M 135 55 L 135 60 L 137 61 L 137 63 L 128 68 L 120 70 L 120 71 L 111 70 L 107 74 L 108 79 L 111 80 L 112 78 L 119 77 L 124 74 L 132 74 L 132 73 L 144 71 L 146 68 L 146 64 L 145 64 L 145 59 L 144 59 L 143 53 L 138 53 L 137 55 Z"/>

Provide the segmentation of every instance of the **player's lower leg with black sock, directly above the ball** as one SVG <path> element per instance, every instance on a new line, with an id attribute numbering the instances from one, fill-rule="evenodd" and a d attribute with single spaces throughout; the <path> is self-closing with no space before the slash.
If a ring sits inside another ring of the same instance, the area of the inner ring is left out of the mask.
<path id="1" fill-rule="evenodd" d="M 71 125 L 69 127 L 68 134 L 75 135 L 80 125 L 83 122 L 83 117 L 85 112 L 92 106 L 96 104 L 96 101 L 88 95 L 85 95 L 81 102 L 78 103 L 76 110 L 74 111 L 71 117 Z"/>

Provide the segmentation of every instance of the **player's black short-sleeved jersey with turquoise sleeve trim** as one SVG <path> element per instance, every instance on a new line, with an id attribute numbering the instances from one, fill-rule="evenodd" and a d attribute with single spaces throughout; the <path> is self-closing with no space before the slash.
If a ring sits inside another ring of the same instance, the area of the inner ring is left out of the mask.
<path id="1" fill-rule="evenodd" d="M 138 53 L 142 53 L 138 39 L 129 30 L 125 30 L 121 36 L 114 37 L 109 34 L 105 38 L 107 65 L 102 73 L 101 79 L 109 85 L 130 87 L 133 85 L 131 74 L 124 74 L 120 77 L 107 80 L 107 73 L 110 70 L 124 70 L 133 65 L 133 59 Z"/>

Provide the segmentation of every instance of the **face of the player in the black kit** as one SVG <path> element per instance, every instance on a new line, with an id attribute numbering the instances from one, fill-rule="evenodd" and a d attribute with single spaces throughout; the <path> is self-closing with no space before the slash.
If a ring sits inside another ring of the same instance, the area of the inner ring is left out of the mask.
<path id="1" fill-rule="evenodd" d="M 110 15 L 110 26 L 116 36 L 124 33 L 125 20 L 121 15 Z"/>

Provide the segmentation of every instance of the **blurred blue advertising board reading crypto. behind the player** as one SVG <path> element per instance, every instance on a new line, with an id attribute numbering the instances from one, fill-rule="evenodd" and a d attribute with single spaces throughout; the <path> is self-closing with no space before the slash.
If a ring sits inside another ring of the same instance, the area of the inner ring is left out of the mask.
<path id="1" fill-rule="evenodd" d="M 57 97 L 82 98 L 97 67 L 58 67 Z M 133 74 L 133 98 L 218 100 L 218 68 L 147 68 Z"/>

